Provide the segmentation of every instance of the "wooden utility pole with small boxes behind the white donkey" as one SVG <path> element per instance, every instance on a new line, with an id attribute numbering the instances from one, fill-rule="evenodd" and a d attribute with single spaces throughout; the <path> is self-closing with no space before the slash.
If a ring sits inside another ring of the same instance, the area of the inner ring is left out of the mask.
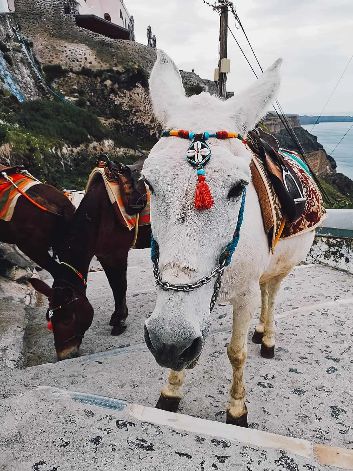
<path id="1" fill-rule="evenodd" d="M 230 72 L 230 60 L 227 59 L 227 42 L 228 42 L 228 0 L 219 0 L 219 6 L 215 6 L 214 10 L 220 12 L 220 28 L 219 28 L 219 61 L 218 61 L 218 95 L 225 99 L 227 73 Z"/>

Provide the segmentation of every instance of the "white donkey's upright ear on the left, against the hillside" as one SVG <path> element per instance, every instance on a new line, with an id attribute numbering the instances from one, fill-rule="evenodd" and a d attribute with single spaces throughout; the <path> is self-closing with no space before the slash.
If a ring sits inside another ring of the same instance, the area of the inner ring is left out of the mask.
<path id="1" fill-rule="evenodd" d="M 181 75 L 171 58 L 161 49 L 150 75 L 150 96 L 154 114 L 165 125 L 172 111 L 185 99 Z"/>

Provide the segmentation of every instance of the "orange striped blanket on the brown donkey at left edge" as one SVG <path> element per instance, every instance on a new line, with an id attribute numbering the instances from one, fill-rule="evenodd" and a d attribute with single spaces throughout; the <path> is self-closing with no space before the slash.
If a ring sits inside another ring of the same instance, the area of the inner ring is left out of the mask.
<path id="1" fill-rule="evenodd" d="M 8 175 L 17 187 L 24 193 L 34 185 L 39 185 L 40 182 L 32 179 L 26 171 L 19 171 Z M 16 207 L 18 198 L 21 193 L 7 181 L 0 173 L 0 219 L 3 221 L 10 221 Z"/>

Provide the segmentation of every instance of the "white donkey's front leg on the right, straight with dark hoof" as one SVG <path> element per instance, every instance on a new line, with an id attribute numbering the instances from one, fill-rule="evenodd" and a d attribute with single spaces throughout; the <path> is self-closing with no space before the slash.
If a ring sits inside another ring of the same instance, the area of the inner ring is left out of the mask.
<path id="1" fill-rule="evenodd" d="M 240 302 L 239 302 L 240 301 Z M 248 427 L 248 410 L 245 405 L 243 368 L 248 353 L 247 337 L 250 321 L 256 307 L 256 299 L 242 298 L 233 303 L 233 333 L 228 344 L 228 358 L 233 368 L 233 382 L 226 422 Z"/>

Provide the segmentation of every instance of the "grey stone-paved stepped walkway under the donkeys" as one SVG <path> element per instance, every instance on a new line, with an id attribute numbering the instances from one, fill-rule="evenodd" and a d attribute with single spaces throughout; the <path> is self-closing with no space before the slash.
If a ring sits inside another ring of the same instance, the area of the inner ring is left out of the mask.
<path id="1" fill-rule="evenodd" d="M 181 415 L 150 409 L 168 374 L 143 342 L 144 318 L 155 301 L 150 268 L 148 251 L 131 252 L 130 314 L 120 337 L 109 335 L 113 302 L 104 273 L 89 275 L 95 319 L 80 358 L 54 363 L 45 307 L 33 310 L 28 355 L 33 366 L 11 370 L 11 376 L 2 373 L 7 381 L 0 386 L 3 467 L 16 460 L 23 463 L 18 469 L 39 471 L 353 469 L 352 452 L 332 448 L 353 445 L 351 275 L 299 266 L 284 281 L 276 309 L 275 357 L 262 358 L 249 334 L 250 430 L 244 431 L 223 423 L 232 377 L 226 304 L 213 311 L 199 364 L 186 373 Z"/>

